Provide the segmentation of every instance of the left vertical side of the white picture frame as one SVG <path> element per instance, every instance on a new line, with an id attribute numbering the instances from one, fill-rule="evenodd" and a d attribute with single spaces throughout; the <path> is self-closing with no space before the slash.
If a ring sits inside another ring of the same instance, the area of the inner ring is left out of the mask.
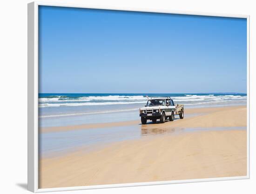
<path id="1" fill-rule="evenodd" d="M 38 190 L 38 5 L 27 5 L 27 189 Z"/>

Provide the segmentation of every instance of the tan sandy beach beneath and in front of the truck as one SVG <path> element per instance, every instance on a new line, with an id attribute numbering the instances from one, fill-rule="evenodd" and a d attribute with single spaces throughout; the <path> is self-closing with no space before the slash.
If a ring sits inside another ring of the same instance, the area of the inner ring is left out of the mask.
<path id="1" fill-rule="evenodd" d="M 244 176 L 246 115 L 246 106 L 190 108 L 185 110 L 183 120 L 175 116 L 174 121 L 163 124 L 141 125 L 140 120 L 131 120 L 40 128 L 41 134 L 47 134 L 139 126 L 142 138 L 108 143 L 91 151 L 81 147 L 74 152 L 42 157 L 39 187 Z"/>

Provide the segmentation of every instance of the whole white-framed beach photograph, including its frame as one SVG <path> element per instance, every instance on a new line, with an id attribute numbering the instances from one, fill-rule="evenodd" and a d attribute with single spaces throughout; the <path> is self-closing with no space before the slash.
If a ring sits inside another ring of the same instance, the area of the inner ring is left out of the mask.
<path id="1" fill-rule="evenodd" d="M 28 4 L 28 189 L 249 178 L 249 16 Z"/>

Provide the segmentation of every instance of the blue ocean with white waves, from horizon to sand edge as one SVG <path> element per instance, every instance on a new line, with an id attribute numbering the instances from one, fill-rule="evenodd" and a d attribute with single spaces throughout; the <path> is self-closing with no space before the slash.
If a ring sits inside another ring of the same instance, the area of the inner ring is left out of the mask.
<path id="1" fill-rule="evenodd" d="M 139 119 L 148 97 L 169 96 L 191 107 L 246 105 L 247 94 L 39 94 L 40 127 Z"/>

